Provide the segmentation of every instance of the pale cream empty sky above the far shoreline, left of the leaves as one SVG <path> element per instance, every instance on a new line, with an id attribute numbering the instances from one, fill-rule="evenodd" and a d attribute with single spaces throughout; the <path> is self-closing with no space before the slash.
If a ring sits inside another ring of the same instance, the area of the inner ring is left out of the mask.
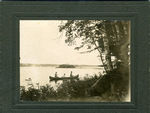
<path id="1" fill-rule="evenodd" d="M 20 20 L 20 63 L 101 65 L 98 52 L 80 54 L 65 43 L 59 20 Z M 81 51 L 80 51 L 81 52 Z"/>

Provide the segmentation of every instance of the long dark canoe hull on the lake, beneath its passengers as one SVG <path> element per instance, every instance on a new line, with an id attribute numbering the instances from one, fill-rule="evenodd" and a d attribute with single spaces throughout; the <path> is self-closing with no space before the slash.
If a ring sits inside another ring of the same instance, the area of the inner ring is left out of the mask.
<path id="1" fill-rule="evenodd" d="M 76 76 L 70 76 L 70 77 L 52 77 L 49 76 L 50 81 L 58 81 L 58 80 L 68 80 L 68 79 L 79 79 L 79 75 Z"/>

